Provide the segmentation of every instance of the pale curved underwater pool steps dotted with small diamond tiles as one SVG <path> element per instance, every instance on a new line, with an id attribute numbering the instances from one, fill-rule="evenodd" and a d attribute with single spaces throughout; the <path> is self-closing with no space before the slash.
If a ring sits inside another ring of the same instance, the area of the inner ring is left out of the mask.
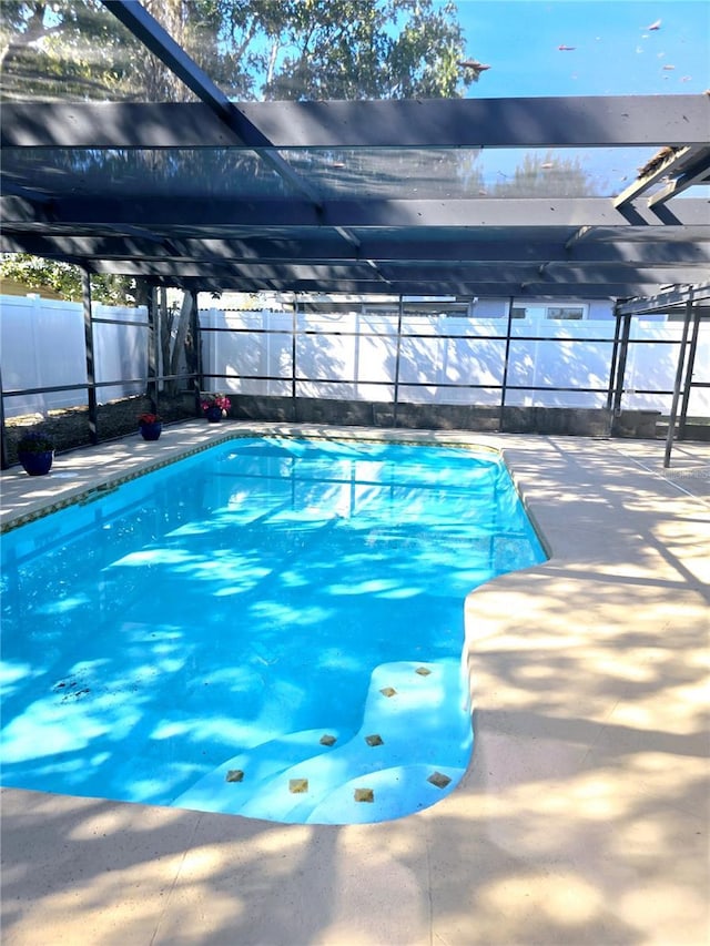
<path id="1" fill-rule="evenodd" d="M 226 760 L 173 803 L 286 823 L 376 822 L 437 802 L 460 780 L 471 731 L 460 665 L 376 668 L 356 735 L 314 729 Z"/>

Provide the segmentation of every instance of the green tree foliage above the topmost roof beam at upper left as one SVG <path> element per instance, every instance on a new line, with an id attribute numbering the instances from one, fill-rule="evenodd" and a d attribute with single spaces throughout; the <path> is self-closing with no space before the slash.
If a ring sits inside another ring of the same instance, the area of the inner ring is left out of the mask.
<path id="1" fill-rule="evenodd" d="M 453 2 L 143 0 L 233 99 L 457 96 L 477 77 Z M 3 0 L 3 98 L 182 101 L 192 93 L 100 0 Z"/>

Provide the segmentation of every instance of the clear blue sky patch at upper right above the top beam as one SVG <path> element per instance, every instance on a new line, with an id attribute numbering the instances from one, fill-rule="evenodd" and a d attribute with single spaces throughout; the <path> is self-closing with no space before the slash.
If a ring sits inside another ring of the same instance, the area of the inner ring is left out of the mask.
<path id="1" fill-rule="evenodd" d="M 710 89 L 710 0 L 457 0 L 467 95 L 631 95 Z M 657 24 L 657 29 L 649 27 Z M 560 50 L 559 47 L 572 47 Z"/>

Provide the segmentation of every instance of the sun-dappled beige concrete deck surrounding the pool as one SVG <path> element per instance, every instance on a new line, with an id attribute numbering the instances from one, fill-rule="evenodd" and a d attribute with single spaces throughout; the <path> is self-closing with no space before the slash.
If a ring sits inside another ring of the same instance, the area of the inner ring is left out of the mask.
<path id="1" fill-rule="evenodd" d="M 237 431 L 387 436 L 189 423 L 4 472 L 2 521 Z M 501 449 L 551 552 L 466 602 L 458 789 L 346 826 L 3 790 L 3 946 L 710 942 L 710 445 L 394 434 Z"/>

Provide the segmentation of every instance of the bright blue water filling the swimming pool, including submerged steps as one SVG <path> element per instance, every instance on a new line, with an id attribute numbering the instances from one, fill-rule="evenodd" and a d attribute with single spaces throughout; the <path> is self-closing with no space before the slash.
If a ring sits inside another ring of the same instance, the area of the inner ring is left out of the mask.
<path id="1" fill-rule="evenodd" d="M 486 451 L 234 439 L 89 497 L 2 538 L 2 783 L 282 822 L 432 805 L 473 750 L 464 599 L 544 558 Z"/>

